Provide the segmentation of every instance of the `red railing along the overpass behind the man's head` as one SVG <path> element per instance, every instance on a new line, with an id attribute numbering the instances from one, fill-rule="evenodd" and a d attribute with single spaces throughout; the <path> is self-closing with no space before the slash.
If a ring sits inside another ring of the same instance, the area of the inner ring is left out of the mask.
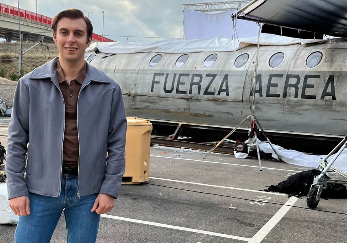
<path id="1" fill-rule="evenodd" d="M 18 8 L 0 3 L 0 12 L 3 12 L 5 14 L 13 15 L 13 16 L 18 16 Z M 52 18 L 41 15 L 41 14 L 36 14 L 35 12 L 27 11 L 24 9 L 19 9 L 19 14 L 21 18 L 26 18 L 29 20 L 34 20 L 43 24 L 52 24 Z M 114 42 L 114 40 L 111 40 L 109 38 L 103 37 L 101 35 L 93 33 L 93 39 L 97 41 L 103 41 L 104 42 Z"/>

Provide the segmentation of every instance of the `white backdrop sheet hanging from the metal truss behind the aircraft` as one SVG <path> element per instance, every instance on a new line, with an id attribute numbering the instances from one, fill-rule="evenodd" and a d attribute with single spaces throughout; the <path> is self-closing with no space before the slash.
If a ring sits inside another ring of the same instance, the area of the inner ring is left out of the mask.
<path id="1" fill-rule="evenodd" d="M 209 14 L 201 11 L 185 10 L 184 39 L 206 39 L 217 36 L 233 39 L 235 32 L 231 12 Z M 236 19 L 235 27 L 239 39 L 255 36 L 259 31 L 258 24 L 248 20 Z"/>

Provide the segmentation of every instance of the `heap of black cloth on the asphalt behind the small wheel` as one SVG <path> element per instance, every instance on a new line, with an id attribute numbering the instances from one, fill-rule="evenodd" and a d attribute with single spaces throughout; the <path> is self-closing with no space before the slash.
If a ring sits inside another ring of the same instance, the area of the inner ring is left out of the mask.
<path id="1" fill-rule="evenodd" d="M 271 185 L 264 191 L 268 192 L 282 192 L 288 195 L 306 196 L 313 184 L 313 178 L 321 174 L 322 171 L 317 169 L 305 170 L 289 176 L 288 179 L 278 183 L 277 185 Z M 325 175 L 325 178 L 330 179 Z M 346 186 L 342 184 L 332 185 L 328 184 L 327 189 L 323 189 L 322 198 L 347 198 Z"/>

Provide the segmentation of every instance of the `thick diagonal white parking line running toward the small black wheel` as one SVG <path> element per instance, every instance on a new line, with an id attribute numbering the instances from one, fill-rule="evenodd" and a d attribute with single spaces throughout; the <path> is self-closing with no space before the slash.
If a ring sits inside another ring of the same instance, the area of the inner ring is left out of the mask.
<path id="1" fill-rule="evenodd" d="M 298 198 L 292 196 L 289 200 L 275 213 L 274 216 L 251 238 L 248 243 L 260 243 L 273 227 L 286 215 L 291 206 L 298 200 Z"/>

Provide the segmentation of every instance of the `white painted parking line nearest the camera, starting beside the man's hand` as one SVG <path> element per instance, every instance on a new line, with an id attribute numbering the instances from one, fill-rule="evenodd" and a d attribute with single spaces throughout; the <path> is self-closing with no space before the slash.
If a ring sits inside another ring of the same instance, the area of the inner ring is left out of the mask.
<path id="1" fill-rule="evenodd" d="M 205 235 L 219 236 L 219 237 L 235 239 L 235 240 L 240 240 L 240 241 L 251 240 L 251 238 L 245 238 L 245 237 L 240 237 L 240 236 L 235 236 L 235 235 L 227 235 L 227 234 L 221 234 L 221 233 L 216 233 L 216 232 L 211 232 L 211 231 L 202 231 L 200 229 L 192 229 L 192 228 L 180 227 L 180 226 L 175 226 L 175 225 L 160 224 L 160 223 L 155 223 L 155 222 L 151 222 L 151 221 L 144 221 L 144 220 L 138 220 L 138 219 L 132 219 L 132 218 L 124 218 L 124 217 L 118 217 L 118 216 L 107 215 L 107 214 L 102 214 L 101 217 L 118 219 L 118 220 L 138 223 L 138 224 L 153 225 L 153 226 L 164 227 L 164 228 L 169 228 L 169 229 L 178 229 L 181 231 L 189 231 L 189 232 L 200 233 L 200 234 L 205 234 Z"/>

